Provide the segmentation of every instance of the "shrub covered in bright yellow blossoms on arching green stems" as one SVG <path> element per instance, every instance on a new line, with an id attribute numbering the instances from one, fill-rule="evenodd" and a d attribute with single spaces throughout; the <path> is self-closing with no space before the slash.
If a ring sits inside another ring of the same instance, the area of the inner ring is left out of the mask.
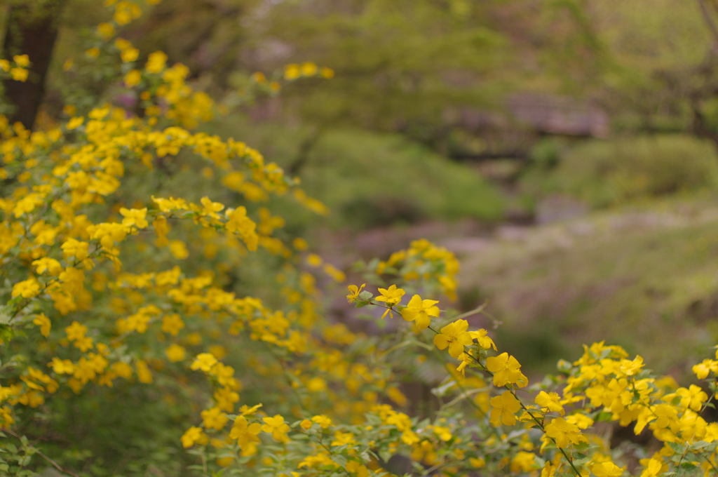
<path id="1" fill-rule="evenodd" d="M 68 105 L 61 124 L 33 132 L 0 122 L 2 473 L 100 473 L 101 463 L 49 455 L 37 441 L 51 440 L 67 399 L 131 422 L 141 409 L 113 396 L 138 389 L 156 389 L 168 416 L 177 402 L 190 408 L 172 438 L 192 462 L 158 458 L 162 475 L 718 473 L 718 424 L 701 417 L 713 407 L 718 355 L 694 366 L 708 392 L 654 376 L 640 356 L 604 343 L 529 385 L 521 363 L 465 319 L 481 309 L 446 309 L 458 263 L 428 241 L 366 264 L 373 285 L 348 286 L 348 302 L 378 310 L 370 319 L 391 322 L 391 332 L 353 333 L 323 318 L 318 283 L 344 274 L 258 204 L 289 196 L 317 213 L 323 205 L 248 145 L 197 131 L 214 101 L 162 52 L 135 65 L 137 50 L 115 35 L 138 7 L 108 4 L 113 23 L 98 28 L 104 43 L 90 54 L 120 58 L 138 108 L 80 114 Z M 24 80 L 29 60 L 2 60 L 0 70 Z M 255 75 L 257 90 L 244 94 L 316 75 L 332 73 L 289 65 L 271 79 Z M 139 194 L 168 164 L 196 158 L 223 190 Z M 253 267 L 275 274 L 276 293 L 246 295 L 238 274 Z M 433 397 L 409 399 L 401 380 L 432 365 L 424 381 Z M 651 432 L 654 445 L 611 448 L 603 422 Z"/>

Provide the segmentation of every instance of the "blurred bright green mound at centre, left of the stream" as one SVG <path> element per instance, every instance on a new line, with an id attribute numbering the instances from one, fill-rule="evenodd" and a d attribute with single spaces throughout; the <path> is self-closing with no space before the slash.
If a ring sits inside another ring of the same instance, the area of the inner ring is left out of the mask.
<path id="1" fill-rule="evenodd" d="M 332 227 L 363 229 L 465 217 L 498 221 L 503 216 L 505 197 L 498 187 L 467 165 L 396 134 L 330 129 L 312 141 L 315 133 L 308 127 L 251 124 L 241 116 L 211 128 L 241 135 L 285 170 L 299 160 L 302 143 L 310 142 L 298 177 L 304 190 L 330 209 Z M 401 177 L 400 184 L 396 177 Z M 279 207 L 291 230 L 310 228 L 319 220 L 286 201 Z"/>

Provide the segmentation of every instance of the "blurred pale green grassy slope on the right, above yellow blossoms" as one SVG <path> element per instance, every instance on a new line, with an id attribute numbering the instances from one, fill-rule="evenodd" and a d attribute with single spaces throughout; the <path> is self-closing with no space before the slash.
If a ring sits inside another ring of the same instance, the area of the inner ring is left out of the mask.
<path id="1" fill-rule="evenodd" d="M 597 213 L 462 257 L 462 287 L 478 287 L 503 321 L 500 346 L 533 369 L 605 340 L 656 371 L 689 371 L 718 342 L 716 236 L 705 198 Z"/>

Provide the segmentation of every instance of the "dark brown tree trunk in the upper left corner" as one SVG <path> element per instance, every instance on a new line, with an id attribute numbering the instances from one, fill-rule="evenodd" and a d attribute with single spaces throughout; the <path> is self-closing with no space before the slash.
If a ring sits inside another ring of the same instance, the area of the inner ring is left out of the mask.
<path id="1" fill-rule="evenodd" d="M 2 57 L 11 60 L 14 55 L 27 55 L 32 62 L 27 81 L 3 83 L 6 101 L 14 106 L 9 117 L 11 124 L 19 121 L 26 129 L 32 129 L 45 96 L 45 78 L 57 40 L 60 13 L 66 3 L 67 0 L 26 0 L 10 6 Z"/>

